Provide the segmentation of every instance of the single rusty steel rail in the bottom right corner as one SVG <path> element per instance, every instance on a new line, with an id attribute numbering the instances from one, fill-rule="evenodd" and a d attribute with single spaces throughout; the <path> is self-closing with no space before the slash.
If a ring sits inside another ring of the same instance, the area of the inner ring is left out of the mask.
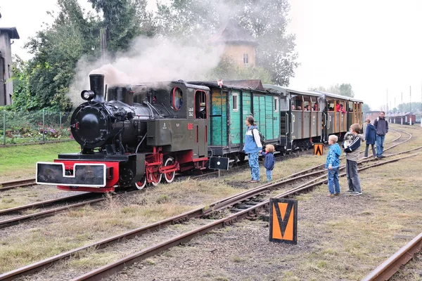
<path id="1" fill-rule="evenodd" d="M 409 243 L 404 245 L 395 254 L 386 259 L 380 266 L 366 275 L 362 281 L 381 281 L 388 280 L 392 275 L 397 273 L 400 266 L 410 261 L 416 253 L 422 250 L 422 233 L 414 237 Z"/>

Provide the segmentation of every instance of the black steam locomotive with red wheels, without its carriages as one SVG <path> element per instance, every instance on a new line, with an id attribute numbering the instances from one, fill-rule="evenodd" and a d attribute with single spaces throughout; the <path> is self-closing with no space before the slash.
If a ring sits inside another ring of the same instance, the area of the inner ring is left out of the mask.
<path id="1" fill-rule="evenodd" d="M 71 117 L 80 152 L 37 163 L 37 183 L 61 190 L 108 192 L 170 183 L 177 171 L 205 169 L 209 88 L 168 81 L 104 90 L 89 75 L 85 103 Z M 106 87 L 107 88 L 107 87 Z"/>

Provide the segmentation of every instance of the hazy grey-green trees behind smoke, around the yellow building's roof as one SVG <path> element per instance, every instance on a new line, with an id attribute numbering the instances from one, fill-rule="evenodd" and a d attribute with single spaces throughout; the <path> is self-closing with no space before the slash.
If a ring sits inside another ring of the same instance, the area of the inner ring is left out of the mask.
<path id="1" fill-rule="evenodd" d="M 271 74 L 273 83 L 286 86 L 298 67 L 295 36 L 286 34 L 289 8 L 287 0 L 174 0 L 158 4 L 158 30 L 162 36 L 204 45 L 210 34 L 235 18 L 259 43 L 257 66 Z"/>

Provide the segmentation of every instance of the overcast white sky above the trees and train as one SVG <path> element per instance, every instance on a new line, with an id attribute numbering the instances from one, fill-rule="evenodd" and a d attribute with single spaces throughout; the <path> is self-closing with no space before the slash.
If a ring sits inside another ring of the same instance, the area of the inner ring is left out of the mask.
<path id="1" fill-rule="evenodd" d="M 155 6 L 155 0 L 150 7 Z M 86 1 L 79 0 L 89 8 Z M 420 0 L 292 0 L 289 31 L 296 34 L 300 67 L 290 80 L 294 89 L 350 83 L 355 98 L 372 109 L 421 101 L 422 1 Z M 28 37 L 56 0 L 0 0 L 0 27 L 16 27 L 20 40 L 12 52 L 24 59 Z"/>

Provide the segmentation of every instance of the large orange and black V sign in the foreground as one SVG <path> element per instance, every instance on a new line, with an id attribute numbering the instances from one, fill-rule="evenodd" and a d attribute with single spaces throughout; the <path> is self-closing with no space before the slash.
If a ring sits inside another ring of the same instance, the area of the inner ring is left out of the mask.
<path id="1" fill-rule="evenodd" d="M 298 244 L 298 200 L 270 198 L 269 241 Z"/>

